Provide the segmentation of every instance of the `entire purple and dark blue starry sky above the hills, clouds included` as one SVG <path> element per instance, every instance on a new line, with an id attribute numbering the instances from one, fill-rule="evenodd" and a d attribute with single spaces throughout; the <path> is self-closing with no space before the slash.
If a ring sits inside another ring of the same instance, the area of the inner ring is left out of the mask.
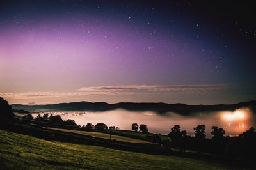
<path id="1" fill-rule="evenodd" d="M 256 100 L 250 1 L 0 1 L 10 103 Z"/>

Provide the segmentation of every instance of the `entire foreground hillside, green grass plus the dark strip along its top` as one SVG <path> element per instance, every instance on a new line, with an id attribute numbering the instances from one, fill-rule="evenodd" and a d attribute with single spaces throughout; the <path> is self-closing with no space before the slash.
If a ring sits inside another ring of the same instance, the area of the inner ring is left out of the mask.
<path id="1" fill-rule="evenodd" d="M 253 169 L 154 143 L 109 141 L 17 122 L 0 126 L 0 162 L 0 169 Z"/>

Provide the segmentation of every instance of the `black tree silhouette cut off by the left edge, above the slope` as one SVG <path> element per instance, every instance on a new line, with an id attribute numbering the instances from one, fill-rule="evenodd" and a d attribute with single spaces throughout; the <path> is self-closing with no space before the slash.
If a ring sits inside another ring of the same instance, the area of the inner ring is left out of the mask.
<path id="1" fill-rule="evenodd" d="M 13 118 L 13 116 L 12 107 L 6 100 L 0 97 L 0 121 Z"/>

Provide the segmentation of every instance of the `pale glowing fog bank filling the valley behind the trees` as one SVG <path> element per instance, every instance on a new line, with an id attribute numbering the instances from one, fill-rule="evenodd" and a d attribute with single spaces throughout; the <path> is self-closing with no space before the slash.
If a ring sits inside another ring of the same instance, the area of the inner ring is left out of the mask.
<path id="1" fill-rule="evenodd" d="M 226 130 L 225 135 L 237 135 L 255 126 L 255 121 L 253 121 L 255 116 L 249 109 L 243 108 L 239 109 L 239 111 L 244 112 L 246 116 L 243 120 L 234 121 L 223 120 L 223 114 L 226 111 L 207 112 L 195 116 L 182 116 L 173 112 L 168 112 L 165 116 L 161 116 L 153 111 L 127 111 L 124 109 L 103 112 L 64 111 L 49 113 L 59 114 L 64 120 L 75 120 L 78 125 L 86 125 L 88 122 L 95 125 L 103 122 L 108 126 L 115 125 L 124 130 L 131 130 L 132 123 L 145 124 L 150 132 L 162 134 L 168 134 L 174 125 L 180 125 L 182 130 L 187 130 L 189 135 L 194 135 L 193 128 L 197 125 L 205 124 L 206 133 L 211 137 L 211 127 L 214 125 L 224 128 Z M 33 114 L 33 116 L 36 117 L 37 114 Z"/>

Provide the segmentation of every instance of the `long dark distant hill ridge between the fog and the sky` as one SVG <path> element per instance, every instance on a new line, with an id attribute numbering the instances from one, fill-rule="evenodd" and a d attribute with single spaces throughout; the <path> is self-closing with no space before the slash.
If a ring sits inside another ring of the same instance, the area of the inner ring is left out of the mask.
<path id="1" fill-rule="evenodd" d="M 60 104 L 45 104 L 45 105 L 22 105 L 12 104 L 13 109 L 24 109 L 27 111 L 110 111 L 114 109 L 126 109 L 129 111 L 155 111 L 159 114 L 167 112 L 176 112 L 184 116 L 210 111 L 234 111 L 241 107 L 250 108 L 253 113 L 256 113 L 256 101 L 241 102 L 237 104 L 217 104 L 217 105 L 186 105 L 186 104 L 166 104 L 166 103 L 133 103 L 120 102 L 116 104 L 108 104 L 106 102 L 70 102 Z"/>

